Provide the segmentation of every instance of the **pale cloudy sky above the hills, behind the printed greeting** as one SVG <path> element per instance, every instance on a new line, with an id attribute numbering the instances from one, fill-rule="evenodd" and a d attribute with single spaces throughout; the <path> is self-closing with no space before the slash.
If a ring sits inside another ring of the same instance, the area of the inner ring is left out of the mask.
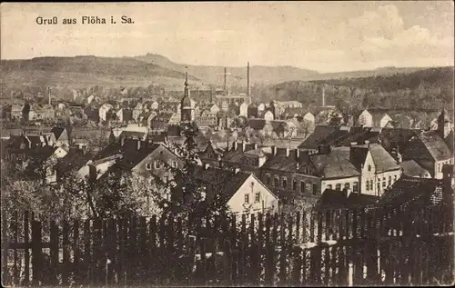
<path id="1" fill-rule="evenodd" d="M 83 25 L 98 16 L 116 25 Z M 120 17 L 134 24 L 120 24 Z M 36 17 L 57 16 L 57 25 Z M 76 18 L 76 25 L 63 25 Z M 321 73 L 454 64 L 453 1 L 1 4 L 1 58 L 134 56 Z"/>

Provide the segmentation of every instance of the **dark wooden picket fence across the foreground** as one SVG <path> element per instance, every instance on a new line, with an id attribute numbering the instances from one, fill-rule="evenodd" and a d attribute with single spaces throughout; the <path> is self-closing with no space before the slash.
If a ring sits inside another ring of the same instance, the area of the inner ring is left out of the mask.
<path id="1" fill-rule="evenodd" d="M 451 205 L 38 222 L 4 215 L 3 283 L 365 285 L 453 281 Z"/>

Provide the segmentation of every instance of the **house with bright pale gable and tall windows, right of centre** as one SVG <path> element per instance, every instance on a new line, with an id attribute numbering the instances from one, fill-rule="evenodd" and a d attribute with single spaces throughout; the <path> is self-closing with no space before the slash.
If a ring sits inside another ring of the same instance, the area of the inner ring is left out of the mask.
<path id="1" fill-rule="evenodd" d="M 401 161 L 380 144 L 353 145 L 349 161 L 360 171 L 361 194 L 380 196 L 401 176 Z"/>

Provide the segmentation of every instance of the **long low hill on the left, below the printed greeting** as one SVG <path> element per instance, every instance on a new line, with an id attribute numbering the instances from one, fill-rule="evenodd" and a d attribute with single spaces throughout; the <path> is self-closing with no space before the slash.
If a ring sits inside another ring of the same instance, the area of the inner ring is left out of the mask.
<path id="1" fill-rule="evenodd" d="M 96 56 L 40 57 L 2 60 L 2 84 L 6 86 L 182 85 L 185 74 L 130 58 Z M 199 79 L 189 77 L 196 84 Z"/>

